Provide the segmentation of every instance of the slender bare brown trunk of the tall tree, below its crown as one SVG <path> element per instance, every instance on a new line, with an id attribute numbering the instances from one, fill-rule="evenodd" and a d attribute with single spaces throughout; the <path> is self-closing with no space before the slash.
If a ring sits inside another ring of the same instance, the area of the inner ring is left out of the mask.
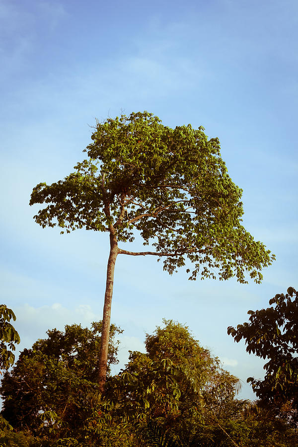
<path id="1" fill-rule="evenodd" d="M 110 325 L 111 325 L 111 304 L 113 297 L 113 284 L 114 284 L 114 270 L 115 262 L 118 255 L 118 244 L 116 236 L 110 233 L 110 255 L 107 267 L 107 282 L 106 291 L 104 296 L 104 306 L 103 306 L 103 317 L 102 317 L 102 330 L 101 330 L 101 342 L 100 342 L 100 353 L 98 360 L 98 377 L 97 381 L 99 384 L 99 389 L 102 392 L 106 373 L 107 373 L 107 362 L 108 362 L 108 348 L 109 348 L 109 335 L 110 335 Z"/>

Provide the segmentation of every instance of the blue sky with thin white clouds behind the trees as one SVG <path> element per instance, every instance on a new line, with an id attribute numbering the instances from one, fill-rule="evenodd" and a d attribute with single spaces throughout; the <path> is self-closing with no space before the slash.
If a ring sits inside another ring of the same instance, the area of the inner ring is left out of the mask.
<path id="1" fill-rule="evenodd" d="M 226 328 L 298 288 L 297 25 L 296 0 L 0 0 L 0 294 L 17 315 L 20 349 L 48 328 L 101 319 L 108 256 L 106 234 L 61 236 L 35 224 L 32 188 L 72 172 L 95 118 L 148 110 L 168 126 L 202 125 L 219 137 L 243 189 L 244 225 L 277 261 L 257 286 L 188 282 L 156 259 L 119 256 L 119 366 L 172 318 L 253 398 L 246 378 L 261 377 L 263 363 Z"/>

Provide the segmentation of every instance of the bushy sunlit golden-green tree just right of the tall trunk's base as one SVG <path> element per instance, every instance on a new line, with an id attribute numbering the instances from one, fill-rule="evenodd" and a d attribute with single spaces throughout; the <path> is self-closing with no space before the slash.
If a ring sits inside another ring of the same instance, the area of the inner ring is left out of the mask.
<path id="1" fill-rule="evenodd" d="M 228 439 L 227 421 L 239 418 L 244 405 L 235 399 L 239 379 L 171 320 L 147 335 L 145 345 L 146 354 L 131 352 L 126 369 L 107 382 L 106 397 L 118 402 L 115 414 L 125 423 L 134 420 L 148 446 L 154 445 L 149 438 L 157 446 L 169 440 L 205 445 L 218 430 L 217 439 Z"/>

